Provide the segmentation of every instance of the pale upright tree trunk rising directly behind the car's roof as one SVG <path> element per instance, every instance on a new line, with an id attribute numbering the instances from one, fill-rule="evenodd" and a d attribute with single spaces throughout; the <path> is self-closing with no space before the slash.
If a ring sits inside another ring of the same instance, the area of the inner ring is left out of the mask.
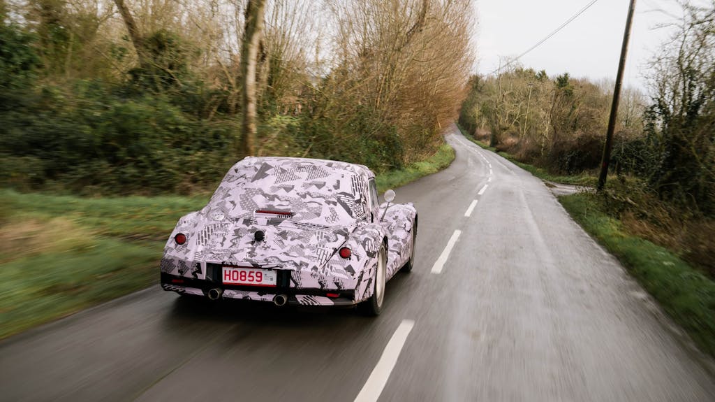
<path id="1" fill-rule="evenodd" d="M 256 136 L 256 75 L 258 50 L 263 31 L 265 0 L 249 0 L 246 6 L 245 30 L 241 44 L 241 76 L 243 91 L 241 97 L 242 132 L 237 144 L 241 156 L 254 153 Z"/>

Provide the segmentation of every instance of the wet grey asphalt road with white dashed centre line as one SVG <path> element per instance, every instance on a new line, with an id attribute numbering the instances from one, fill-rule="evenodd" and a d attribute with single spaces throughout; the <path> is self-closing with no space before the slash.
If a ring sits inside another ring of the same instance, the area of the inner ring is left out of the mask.
<path id="1" fill-rule="evenodd" d="M 157 286 L 0 343 L 0 400 L 715 401 L 712 361 L 540 180 L 447 139 L 455 162 L 397 190 L 417 262 L 378 318 Z"/>

